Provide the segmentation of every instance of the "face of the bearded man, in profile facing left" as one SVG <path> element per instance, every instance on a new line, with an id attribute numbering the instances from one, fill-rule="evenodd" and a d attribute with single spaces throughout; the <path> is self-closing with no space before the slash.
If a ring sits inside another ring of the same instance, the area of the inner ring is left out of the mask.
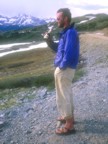
<path id="1" fill-rule="evenodd" d="M 59 28 L 63 28 L 64 27 L 64 16 L 62 12 L 58 12 L 56 14 L 56 19 L 57 19 L 57 23 L 58 23 L 58 27 Z"/>

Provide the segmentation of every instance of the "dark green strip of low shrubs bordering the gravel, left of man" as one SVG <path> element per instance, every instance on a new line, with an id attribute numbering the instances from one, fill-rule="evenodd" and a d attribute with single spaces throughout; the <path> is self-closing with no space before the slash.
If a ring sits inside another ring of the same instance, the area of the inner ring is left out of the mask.
<path id="1" fill-rule="evenodd" d="M 54 78 L 52 74 L 32 76 L 32 77 L 22 77 L 22 78 L 8 78 L 0 81 L 0 89 L 5 88 L 18 88 L 18 87 L 40 87 L 48 86 L 52 87 Z"/>

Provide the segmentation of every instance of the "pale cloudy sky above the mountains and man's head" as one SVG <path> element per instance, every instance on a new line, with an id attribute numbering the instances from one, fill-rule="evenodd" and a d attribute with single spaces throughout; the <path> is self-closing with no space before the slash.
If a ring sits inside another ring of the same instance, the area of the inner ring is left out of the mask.
<path id="1" fill-rule="evenodd" d="M 55 18 L 59 8 L 69 8 L 72 17 L 85 14 L 108 14 L 108 0 L 0 0 L 0 15 L 18 14 Z"/>

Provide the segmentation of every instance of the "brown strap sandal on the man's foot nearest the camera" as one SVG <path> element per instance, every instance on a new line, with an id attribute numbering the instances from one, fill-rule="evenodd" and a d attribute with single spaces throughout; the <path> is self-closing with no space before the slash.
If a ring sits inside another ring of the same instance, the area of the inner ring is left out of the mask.
<path id="1" fill-rule="evenodd" d="M 70 135 L 70 134 L 75 134 L 75 129 L 69 129 L 67 127 L 61 127 L 56 129 L 56 134 L 57 135 Z"/>

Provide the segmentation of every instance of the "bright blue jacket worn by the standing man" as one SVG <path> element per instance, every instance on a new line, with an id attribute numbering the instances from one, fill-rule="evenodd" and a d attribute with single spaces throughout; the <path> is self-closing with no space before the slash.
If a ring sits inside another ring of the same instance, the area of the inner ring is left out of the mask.
<path id="1" fill-rule="evenodd" d="M 64 29 L 58 44 L 52 43 L 51 48 L 56 52 L 55 67 L 76 69 L 79 59 L 79 38 L 73 26 Z"/>

